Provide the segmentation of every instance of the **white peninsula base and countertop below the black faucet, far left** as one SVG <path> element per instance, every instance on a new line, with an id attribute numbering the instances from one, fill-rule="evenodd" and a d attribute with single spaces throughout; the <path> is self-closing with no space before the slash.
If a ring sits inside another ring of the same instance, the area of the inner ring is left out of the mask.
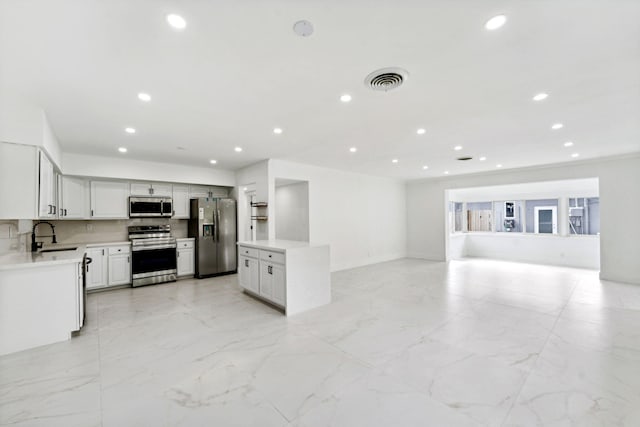
<path id="1" fill-rule="evenodd" d="M 82 327 L 84 253 L 0 256 L 0 355 L 68 340 Z"/>

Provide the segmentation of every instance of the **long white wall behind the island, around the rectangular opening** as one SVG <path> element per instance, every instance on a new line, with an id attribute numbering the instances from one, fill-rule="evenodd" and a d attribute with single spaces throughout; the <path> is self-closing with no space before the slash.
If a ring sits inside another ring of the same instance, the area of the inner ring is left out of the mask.
<path id="1" fill-rule="evenodd" d="M 332 271 L 405 256 L 403 181 L 282 160 L 270 175 L 272 188 L 276 178 L 309 182 L 309 237 L 331 246 Z"/>

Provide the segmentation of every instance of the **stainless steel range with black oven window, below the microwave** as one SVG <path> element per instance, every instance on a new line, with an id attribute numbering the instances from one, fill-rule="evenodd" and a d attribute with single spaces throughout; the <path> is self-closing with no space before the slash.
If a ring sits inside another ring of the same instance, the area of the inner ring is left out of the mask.
<path id="1" fill-rule="evenodd" d="M 175 282 L 177 245 L 169 224 L 130 226 L 129 240 L 132 286 Z"/>

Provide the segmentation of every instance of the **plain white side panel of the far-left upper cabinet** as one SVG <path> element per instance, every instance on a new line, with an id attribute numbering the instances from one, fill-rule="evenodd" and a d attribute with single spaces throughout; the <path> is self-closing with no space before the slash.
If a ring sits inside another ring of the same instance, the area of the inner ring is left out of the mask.
<path id="1" fill-rule="evenodd" d="M 38 217 L 38 150 L 0 142 L 0 219 Z"/>

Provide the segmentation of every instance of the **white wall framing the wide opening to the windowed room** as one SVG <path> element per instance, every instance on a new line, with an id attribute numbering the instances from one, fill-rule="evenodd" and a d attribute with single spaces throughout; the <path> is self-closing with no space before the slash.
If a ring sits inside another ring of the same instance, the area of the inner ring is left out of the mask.
<path id="1" fill-rule="evenodd" d="M 539 168 L 506 170 L 407 183 L 409 256 L 445 260 L 445 190 L 508 183 L 599 178 L 600 276 L 640 284 L 640 155 Z"/>

